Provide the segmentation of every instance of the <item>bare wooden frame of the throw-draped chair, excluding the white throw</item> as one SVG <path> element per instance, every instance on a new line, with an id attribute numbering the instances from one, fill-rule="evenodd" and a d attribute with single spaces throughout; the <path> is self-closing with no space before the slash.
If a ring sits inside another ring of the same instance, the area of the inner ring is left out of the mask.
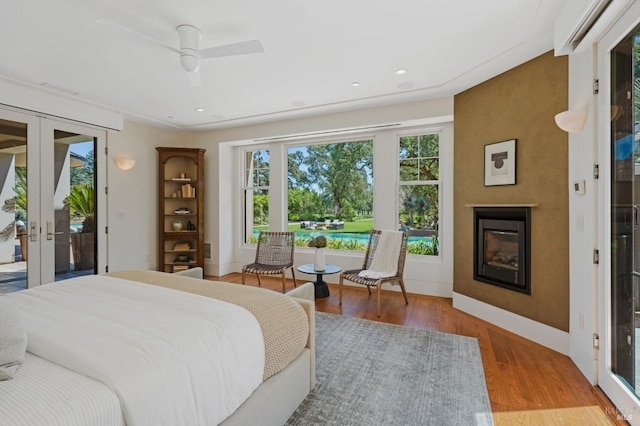
<path id="1" fill-rule="evenodd" d="M 393 285 L 400 285 L 402 289 L 402 295 L 404 296 L 404 301 L 406 304 L 409 304 L 409 300 L 407 299 L 407 292 L 404 288 L 404 281 L 402 279 L 402 274 L 404 272 L 404 260 L 407 255 L 407 241 L 409 239 L 409 234 L 407 232 L 402 233 L 402 242 L 400 246 L 400 253 L 398 256 L 398 268 L 394 275 L 384 276 L 379 278 L 366 278 L 360 276 L 360 272 L 364 270 L 369 270 L 371 267 L 371 262 L 373 261 L 374 255 L 376 253 L 376 249 L 378 248 L 378 242 L 380 241 L 380 235 L 382 231 L 380 230 L 372 230 L 371 235 L 369 237 L 369 244 L 367 245 L 367 252 L 364 256 L 364 263 L 362 268 L 360 269 L 351 269 L 347 271 L 343 271 L 340 274 L 340 284 L 339 284 L 339 294 L 340 294 L 340 305 L 342 305 L 342 284 L 343 280 L 351 281 L 357 284 L 362 284 L 367 286 L 367 290 L 369 290 L 369 294 L 371 294 L 371 287 L 376 287 L 378 289 L 378 316 L 380 316 L 380 288 L 384 283 L 390 283 Z"/>

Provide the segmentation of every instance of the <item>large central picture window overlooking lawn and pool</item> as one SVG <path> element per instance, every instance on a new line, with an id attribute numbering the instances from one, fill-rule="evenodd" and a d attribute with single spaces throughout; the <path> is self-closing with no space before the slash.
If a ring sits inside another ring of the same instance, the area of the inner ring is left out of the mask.
<path id="1" fill-rule="evenodd" d="M 373 141 L 289 147 L 289 229 L 296 244 L 327 237 L 327 248 L 366 250 L 373 228 Z"/>

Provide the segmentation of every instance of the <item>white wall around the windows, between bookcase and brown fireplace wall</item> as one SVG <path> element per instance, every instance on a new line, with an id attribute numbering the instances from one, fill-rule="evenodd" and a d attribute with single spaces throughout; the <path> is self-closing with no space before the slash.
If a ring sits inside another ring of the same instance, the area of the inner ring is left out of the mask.
<path id="1" fill-rule="evenodd" d="M 212 258 L 205 260 L 205 273 L 224 275 L 239 272 L 242 265 L 253 261 L 255 249 L 241 244 L 239 219 L 242 217 L 238 196 L 240 178 L 237 165 L 239 157 L 234 149 L 238 145 L 262 143 L 257 141 L 274 136 L 299 135 L 310 132 L 321 132 L 333 129 L 350 129 L 383 123 L 405 123 L 406 125 L 422 124 L 421 128 L 442 130 L 443 158 L 449 164 L 442 164 L 443 206 L 441 215 L 444 225 L 441 227 L 442 254 L 438 259 L 425 259 L 424 256 L 408 256 L 405 266 L 407 291 L 418 294 L 430 294 L 451 297 L 453 287 L 453 248 L 449 244 L 453 238 L 453 224 L 447 223 L 451 216 L 444 214 L 451 211 L 453 205 L 453 98 L 432 101 L 412 102 L 395 106 L 357 110 L 339 114 L 327 114 L 266 123 L 256 126 L 245 126 L 232 129 L 200 132 L 189 135 L 188 144 L 207 149 L 205 205 L 207 211 L 205 241 L 212 244 Z M 437 123 L 437 124 L 436 124 Z M 443 124 L 444 123 L 444 124 Z M 368 134 L 374 132 L 368 131 Z M 374 150 L 376 158 L 387 158 L 389 162 L 374 165 L 375 193 L 377 207 L 382 214 L 376 214 L 376 227 L 393 228 L 396 226 L 396 203 L 389 202 L 389 194 L 395 194 L 397 152 L 395 135 L 398 129 L 375 131 Z M 272 145 L 274 148 L 275 145 Z M 272 152 L 272 157 L 277 156 Z M 385 164 L 386 163 L 386 164 Z M 275 189 L 277 191 L 277 189 Z M 281 192 L 281 191 L 280 191 Z M 328 251 L 326 259 L 329 263 L 341 265 L 343 268 L 357 268 L 362 265 L 362 253 L 349 251 Z M 296 249 L 296 265 L 313 261 L 313 250 Z M 310 277 L 300 274 L 298 279 Z M 330 282 L 337 282 L 337 275 L 327 277 Z"/>

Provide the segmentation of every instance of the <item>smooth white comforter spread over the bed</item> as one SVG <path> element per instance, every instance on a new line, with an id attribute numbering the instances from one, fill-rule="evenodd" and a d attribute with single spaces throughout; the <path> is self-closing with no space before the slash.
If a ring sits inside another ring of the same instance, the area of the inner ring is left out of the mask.
<path id="1" fill-rule="evenodd" d="M 86 276 L 14 297 L 27 351 L 102 381 L 135 425 L 215 425 L 260 385 L 264 343 L 245 309 Z"/>

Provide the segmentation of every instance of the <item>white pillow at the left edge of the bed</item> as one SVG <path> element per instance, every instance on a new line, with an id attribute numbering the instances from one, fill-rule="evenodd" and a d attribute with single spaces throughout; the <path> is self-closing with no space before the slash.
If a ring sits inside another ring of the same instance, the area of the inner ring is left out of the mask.
<path id="1" fill-rule="evenodd" d="M 16 302 L 0 296 L 0 381 L 13 379 L 27 350 L 27 330 Z"/>

